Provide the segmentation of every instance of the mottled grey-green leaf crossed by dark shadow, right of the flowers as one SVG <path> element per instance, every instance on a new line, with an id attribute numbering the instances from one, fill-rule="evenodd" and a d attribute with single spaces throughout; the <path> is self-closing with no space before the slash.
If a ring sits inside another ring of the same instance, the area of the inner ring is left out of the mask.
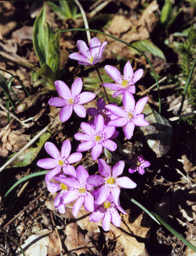
<path id="1" fill-rule="evenodd" d="M 172 126 L 165 117 L 157 113 L 148 103 L 145 104 L 142 113 L 145 114 L 145 120 L 149 122 L 148 126 L 139 127 L 142 136 L 156 156 L 162 157 L 170 149 Z"/>

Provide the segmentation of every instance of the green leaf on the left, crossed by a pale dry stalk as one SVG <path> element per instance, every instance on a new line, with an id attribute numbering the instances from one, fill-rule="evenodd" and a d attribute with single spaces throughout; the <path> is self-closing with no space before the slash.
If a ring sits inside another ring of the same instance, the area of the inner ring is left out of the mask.
<path id="1" fill-rule="evenodd" d="M 40 152 L 40 149 L 43 147 L 43 144 L 48 140 L 48 138 L 51 136 L 50 132 L 45 132 L 40 136 L 39 142 L 36 143 L 36 148 L 28 148 L 26 151 L 20 155 L 13 163 L 11 163 L 7 168 L 12 167 L 23 167 L 29 165 L 36 157 L 37 154 Z M 11 154 L 8 157 L 8 160 L 11 159 L 15 154 Z"/>

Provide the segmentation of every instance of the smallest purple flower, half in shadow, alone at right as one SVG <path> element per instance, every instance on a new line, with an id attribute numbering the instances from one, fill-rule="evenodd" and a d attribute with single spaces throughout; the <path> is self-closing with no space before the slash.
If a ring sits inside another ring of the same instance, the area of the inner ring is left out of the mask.
<path id="1" fill-rule="evenodd" d="M 132 160 L 127 160 L 127 163 L 130 164 L 129 173 L 134 173 L 136 171 L 139 172 L 139 174 L 143 175 L 145 173 L 145 167 L 148 167 L 151 165 L 150 162 L 144 160 L 144 157 L 142 154 L 137 156 L 136 154 L 132 155 Z"/>

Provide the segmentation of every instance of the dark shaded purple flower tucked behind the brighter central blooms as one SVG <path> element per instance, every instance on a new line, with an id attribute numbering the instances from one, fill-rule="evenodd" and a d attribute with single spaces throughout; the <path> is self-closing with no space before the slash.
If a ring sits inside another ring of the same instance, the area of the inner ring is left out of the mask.
<path id="1" fill-rule="evenodd" d="M 116 105 L 116 103 L 112 103 L 112 105 Z M 102 115 L 105 125 L 108 125 L 108 122 L 116 118 L 115 115 L 105 108 L 105 101 L 102 98 L 98 99 L 97 108 L 88 108 L 87 113 L 94 118 L 99 114 Z M 94 119 L 91 119 L 88 123 L 94 124 Z"/>

